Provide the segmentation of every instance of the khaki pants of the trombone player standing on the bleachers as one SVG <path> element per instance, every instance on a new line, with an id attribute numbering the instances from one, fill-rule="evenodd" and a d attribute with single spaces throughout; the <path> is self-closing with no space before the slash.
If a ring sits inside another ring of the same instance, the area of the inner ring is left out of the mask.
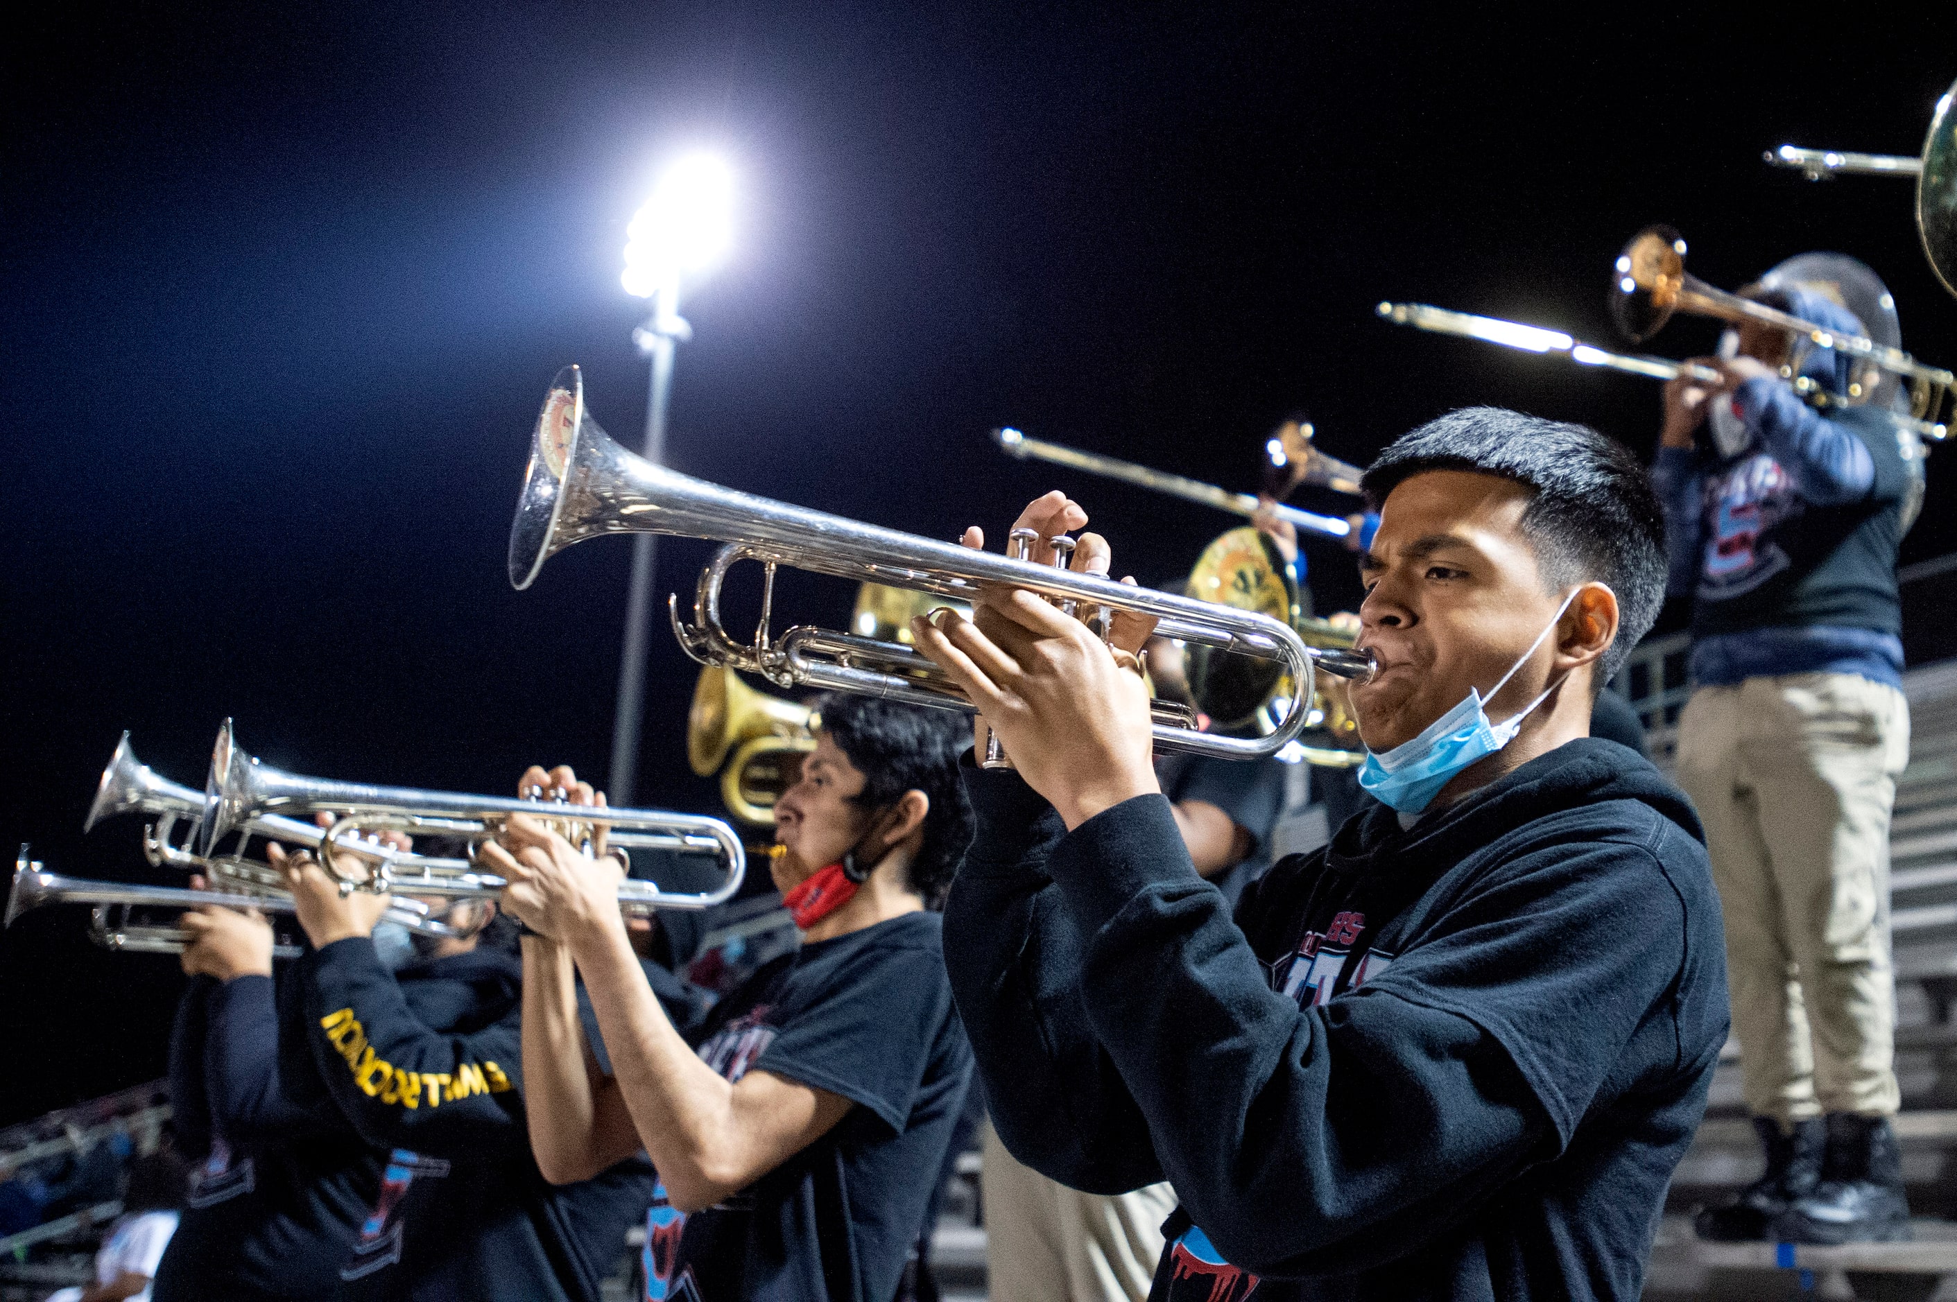
<path id="1" fill-rule="evenodd" d="M 1679 717 L 1755 1116 L 1896 1110 L 1889 813 L 1908 756 L 1902 693 L 1853 674 L 1701 687 Z"/>

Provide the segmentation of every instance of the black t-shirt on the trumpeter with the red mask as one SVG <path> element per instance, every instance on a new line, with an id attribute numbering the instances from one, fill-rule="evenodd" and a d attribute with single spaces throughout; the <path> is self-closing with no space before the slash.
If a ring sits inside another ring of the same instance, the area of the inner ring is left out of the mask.
<path id="1" fill-rule="evenodd" d="M 857 1106 L 720 1206 L 687 1216 L 661 1188 L 646 1296 L 890 1302 L 971 1083 L 943 918 L 908 912 L 775 959 L 695 1046 L 728 1081 L 773 1071 Z"/>

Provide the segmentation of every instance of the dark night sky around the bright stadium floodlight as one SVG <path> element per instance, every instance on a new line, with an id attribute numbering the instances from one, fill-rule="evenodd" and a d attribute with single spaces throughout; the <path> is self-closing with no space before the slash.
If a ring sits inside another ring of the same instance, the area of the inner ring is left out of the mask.
<path id="1" fill-rule="evenodd" d="M 1759 163 L 1914 153 L 1957 76 L 1947 8 L 192 8 L 16 10 L 0 55 L 0 838 L 57 871 L 147 871 L 135 822 L 80 836 L 121 728 L 192 783 L 225 715 L 309 773 L 601 773 L 630 548 L 515 593 L 503 546 L 558 366 L 638 441 L 618 251 L 689 145 L 736 161 L 742 227 L 689 290 L 671 464 L 937 536 L 1065 486 L 1145 581 L 1231 521 L 984 431 L 1231 488 L 1290 409 L 1358 462 L 1481 401 L 1648 450 L 1650 382 L 1370 309 L 1611 345 L 1605 268 L 1650 221 L 1728 288 L 1853 253 L 1906 345 L 1957 362 L 1908 186 Z M 1957 544 L 1945 456 L 1904 560 Z M 1321 609 L 1348 601 L 1343 552 L 1307 546 Z M 705 550 L 663 544 L 661 591 Z M 795 591 L 808 617 L 847 601 Z M 1912 654 L 1947 654 L 1910 601 Z M 642 803 L 718 805 L 679 748 L 693 674 L 660 632 Z M 78 910 L 0 938 L 0 1122 L 160 1075 L 176 987 L 170 959 L 86 946 Z"/>

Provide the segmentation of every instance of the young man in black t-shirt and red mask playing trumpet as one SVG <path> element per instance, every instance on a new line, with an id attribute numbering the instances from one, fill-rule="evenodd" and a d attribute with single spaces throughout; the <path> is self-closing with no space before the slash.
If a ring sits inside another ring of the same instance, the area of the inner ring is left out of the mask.
<path id="1" fill-rule="evenodd" d="M 530 1143 L 550 1181 L 644 1149 L 646 1296 L 890 1302 L 971 1081 L 935 912 L 971 840 L 965 722 L 826 697 L 769 860 L 802 932 L 681 1036 L 618 914 L 620 865 L 517 816 L 485 850 L 523 940 Z M 524 787 L 575 791 L 569 769 Z M 583 1040 L 583 977 L 609 1069 Z"/>

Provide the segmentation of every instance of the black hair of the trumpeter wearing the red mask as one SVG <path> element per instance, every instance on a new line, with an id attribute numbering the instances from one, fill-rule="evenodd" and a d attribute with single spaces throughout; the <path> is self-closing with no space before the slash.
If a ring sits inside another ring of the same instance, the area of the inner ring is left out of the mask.
<path id="1" fill-rule="evenodd" d="M 973 738 L 971 719 L 840 691 L 820 697 L 816 711 L 822 732 L 863 773 L 857 805 L 883 809 L 906 791 L 922 791 L 930 799 L 924 844 L 910 861 L 910 887 L 928 907 L 941 907 L 973 840 L 973 807 L 959 775 L 959 756 Z"/>

